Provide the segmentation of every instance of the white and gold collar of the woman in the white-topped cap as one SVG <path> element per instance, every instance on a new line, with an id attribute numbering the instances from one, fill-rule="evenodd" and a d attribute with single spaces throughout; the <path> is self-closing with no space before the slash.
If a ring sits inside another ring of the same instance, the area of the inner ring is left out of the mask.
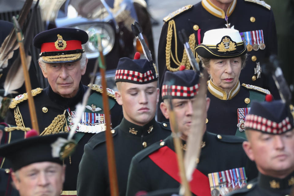
<path id="1" fill-rule="evenodd" d="M 212 79 L 209 80 L 209 84 L 208 84 L 207 88 L 213 96 L 219 98 L 220 100 L 230 100 L 233 97 L 235 97 L 238 94 L 238 92 L 240 91 L 240 83 L 238 80 L 238 82 L 236 83 L 234 88 L 232 88 L 232 90 L 229 92 L 229 96 L 227 96 L 227 92 L 225 92 L 223 89 L 221 89 L 220 87 L 215 85 L 213 83 Z M 220 95 L 220 93 L 222 94 L 222 96 Z"/>

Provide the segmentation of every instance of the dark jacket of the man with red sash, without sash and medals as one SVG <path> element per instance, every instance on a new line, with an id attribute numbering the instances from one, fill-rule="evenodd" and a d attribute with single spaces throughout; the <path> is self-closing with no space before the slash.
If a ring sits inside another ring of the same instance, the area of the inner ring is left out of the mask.
<path id="1" fill-rule="evenodd" d="M 197 169 L 207 176 L 212 172 L 245 167 L 248 180 L 257 177 L 258 171 L 255 164 L 243 151 L 243 141 L 244 139 L 240 137 L 215 135 L 206 131 L 203 135 L 205 146 L 201 150 Z M 149 158 L 150 154 L 164 146 L 175 151 L 172 136 L 164 139 L 164 143 L 156 142 L 134 156 L 130 165 L 126 196 L 134 196 L 138 191 L 150 192 L 179 187 L 179 182 Z"/>

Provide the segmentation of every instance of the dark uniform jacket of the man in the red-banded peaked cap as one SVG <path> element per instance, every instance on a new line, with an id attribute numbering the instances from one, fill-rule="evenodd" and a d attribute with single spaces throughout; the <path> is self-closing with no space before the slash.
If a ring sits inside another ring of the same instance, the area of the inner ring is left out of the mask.
<path id="1" fill-rule="evenodd" d="M 55 134 L 60 131 L 68 131 L 70 129 L 70 120 L 75 116 L 76 105 L 82 101 L 87 90 L 87 86 L 80 83 L 77 95 L 73 98 L 64 98 L 53 92 L 49 86 L 45 89 L 37 88 L 32 90 L 36 107 L 36 115 L 39 124 L 41 135 Z M 101 88 L 98 85 L 92 87 L 88 103 L 84 114 L 82 115 L 81 123 L 75 133 L 75 139 L 78 142 L 74 154 L 64 160 L 66 164 L 66 178 L 63 184 L 62 195 L 76 195 L 78 166 L 84 153 L 84 145 L 89 139 L 95 135 L 95 131 L 101 131 L 100 126 L 104 122 L 104 108 L 102 103 Z M 110 91 L 110 89 L 108 89 Z M 112 127 L 117 126 L 123 118 L 122 107 L 113 98 L 114 93 L 109 93 L 109 108 L 111 115 Z M 26 93 L 17 96 L 9 105 L 6 122 L 17 127 L 31 127 L 31 119 L 28 109 L 28 101 Z M 96 129 L 91 123 L 96 124 Z M 89 126 L 86 126 L 89 125 Z M 87 129 L 86 129 L 87 128 Z"/>

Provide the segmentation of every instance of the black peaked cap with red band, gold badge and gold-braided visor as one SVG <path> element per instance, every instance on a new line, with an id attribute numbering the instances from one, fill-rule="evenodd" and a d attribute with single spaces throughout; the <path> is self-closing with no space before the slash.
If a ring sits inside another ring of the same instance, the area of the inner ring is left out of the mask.
<path id="1" fill-rule="evenodd" d="M 82 44 L 88 34 L 81 29 L 55 28 L 43 31 L 34 37 L 33 43 L 41 49 L 40 58 L 45 63 L 74 62 L 82 58 Z"/>

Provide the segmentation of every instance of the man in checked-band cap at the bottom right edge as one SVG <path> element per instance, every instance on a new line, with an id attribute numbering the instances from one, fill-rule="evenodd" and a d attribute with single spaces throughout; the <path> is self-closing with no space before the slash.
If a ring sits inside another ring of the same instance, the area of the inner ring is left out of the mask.
<path id="1" fill-rule="evenodd" d="M 252 103 L 243 148 L 255 161 L 258 178 L 231 195 L 289 195 L 294 185 L 293 116 L 282 101 Z"/>

